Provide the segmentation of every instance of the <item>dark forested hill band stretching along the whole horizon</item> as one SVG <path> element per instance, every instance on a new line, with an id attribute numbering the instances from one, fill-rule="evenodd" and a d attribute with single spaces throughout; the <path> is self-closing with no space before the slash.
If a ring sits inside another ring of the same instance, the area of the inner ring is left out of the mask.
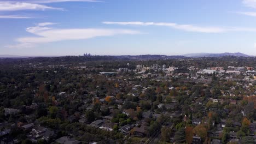
<path id="1" fill-rule="evenodd" d="M 201 57 L 191 58 L 184 56 L 165 56 L 165 55 L 139 55 L 139 56 L 64 56 L 64 57 L 31 57 L 31 58 L 0 58 L 0 64 L 19 64 L 19 63 L 48 63 L 48 64 L 61 64 L 61 63 L 83 63 L 93 61 L 164 61 L 168 59 L 183 59 L 186 61 L 215 61 L 215 62 L 242 62 L 246 63 L 255 62 L 255 57 L 236 57 L 236 56 L 223 56 L 223 57 Z"/>

